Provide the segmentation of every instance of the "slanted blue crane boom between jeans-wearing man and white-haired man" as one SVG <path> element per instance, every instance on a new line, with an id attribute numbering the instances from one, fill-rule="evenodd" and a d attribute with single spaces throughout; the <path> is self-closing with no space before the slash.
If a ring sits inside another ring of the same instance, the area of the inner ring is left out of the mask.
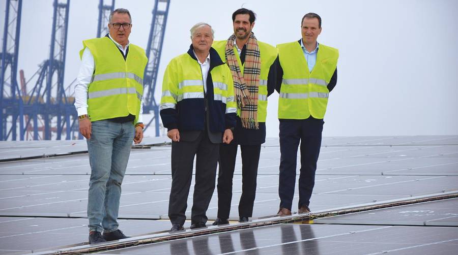
<path id="1" fill-rule="evenodd" d="M 144 105 L 143 113 L 153 112 L 153 117 L 146 123 L 145 130 L 154 120 L 155 135 L 159 136 L 159 105 L 154 98 L 156 89 L 157 71 L 159 69 L 159 60 L 161 58 L 162 44 L 164 42 L 165 25 L 167 23 L 168 8 L 170 0 L 155 0 L 153 9 L 153 19 L 151 21 L 150 35 L 146 54 L 148 65 L 145 68 L 143 77 L 144 82 Z"/>

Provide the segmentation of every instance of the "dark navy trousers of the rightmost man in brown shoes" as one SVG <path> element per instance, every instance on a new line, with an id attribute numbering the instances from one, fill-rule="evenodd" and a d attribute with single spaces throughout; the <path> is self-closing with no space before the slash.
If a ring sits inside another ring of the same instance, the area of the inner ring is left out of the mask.
<path id="1" fill-rule="evenodd" d="M 280 176 L 278 195 L 280 207 L 291 210 L 296 186 L 297 148 L 300 142 L 301 168 L 299 175 L 299 204 L 308 206 L 317 170 L 321 147 L 323 119 L 280 120 Z"/>

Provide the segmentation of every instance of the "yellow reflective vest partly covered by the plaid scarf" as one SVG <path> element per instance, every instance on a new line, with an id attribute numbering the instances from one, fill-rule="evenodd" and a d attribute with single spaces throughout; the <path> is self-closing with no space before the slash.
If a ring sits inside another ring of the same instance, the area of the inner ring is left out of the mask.
<path id="1" fill-rule="evenodd" d="M 224 54 L 224 48 L 227 41 L 214 41 L 212 47 L 218 52 L 221 59 L 226 61 L 226 56 Z M 277 58 L 277 49 L 270 44 L 257 41 L 259 45 L 259 51 L 261 54 L 261 74 L 259 75 L 259 90 L 257 95 L 257 121 L 266 122 L 267 118 L 267 77 L 269 76 L 270 66 Z M 242 65 L 240 60 L 239 53 L 234 46 L 234 52 L 239 62 L 240 71 L 243 75 L 243 70 L 245 68 L 245 63 Z M 237 109 L 237 115 L 240 116 L 240 109 Z"/>

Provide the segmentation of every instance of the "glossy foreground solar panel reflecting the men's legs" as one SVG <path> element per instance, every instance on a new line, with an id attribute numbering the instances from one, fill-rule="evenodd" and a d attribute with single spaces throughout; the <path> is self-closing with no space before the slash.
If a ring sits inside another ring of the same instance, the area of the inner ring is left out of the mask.
<path id="1" fill-rule="evenodd" d="M 102 254 L 455 254 L 456 228 L 280 224 Z"/>

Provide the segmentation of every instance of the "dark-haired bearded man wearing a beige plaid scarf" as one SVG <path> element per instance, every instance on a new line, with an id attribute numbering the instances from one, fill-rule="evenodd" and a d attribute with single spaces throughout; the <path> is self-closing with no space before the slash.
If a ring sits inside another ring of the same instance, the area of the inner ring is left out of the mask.
<path id="1" fill-rule="evenodd" d="M 261 144 L 266 140 L 267 97 L 275 90 L 273 63 L 277 49 L 260 42 L 252 29 L 255 14 L 242 8 L 232 14 L 234 34 L 225 41 L 213 43 L 221 59 L 225 59 L 234 80 L 237 100 L 237 125 L 234 140 L 221 144 L 218 173 L 218 217 L 213 225 L 228 224 L 232 200 L 237 148 L 242 154 L 242 196 L 239 203 L 239 221 L 252 216 L 256 192 L 257 166 Z"/>

